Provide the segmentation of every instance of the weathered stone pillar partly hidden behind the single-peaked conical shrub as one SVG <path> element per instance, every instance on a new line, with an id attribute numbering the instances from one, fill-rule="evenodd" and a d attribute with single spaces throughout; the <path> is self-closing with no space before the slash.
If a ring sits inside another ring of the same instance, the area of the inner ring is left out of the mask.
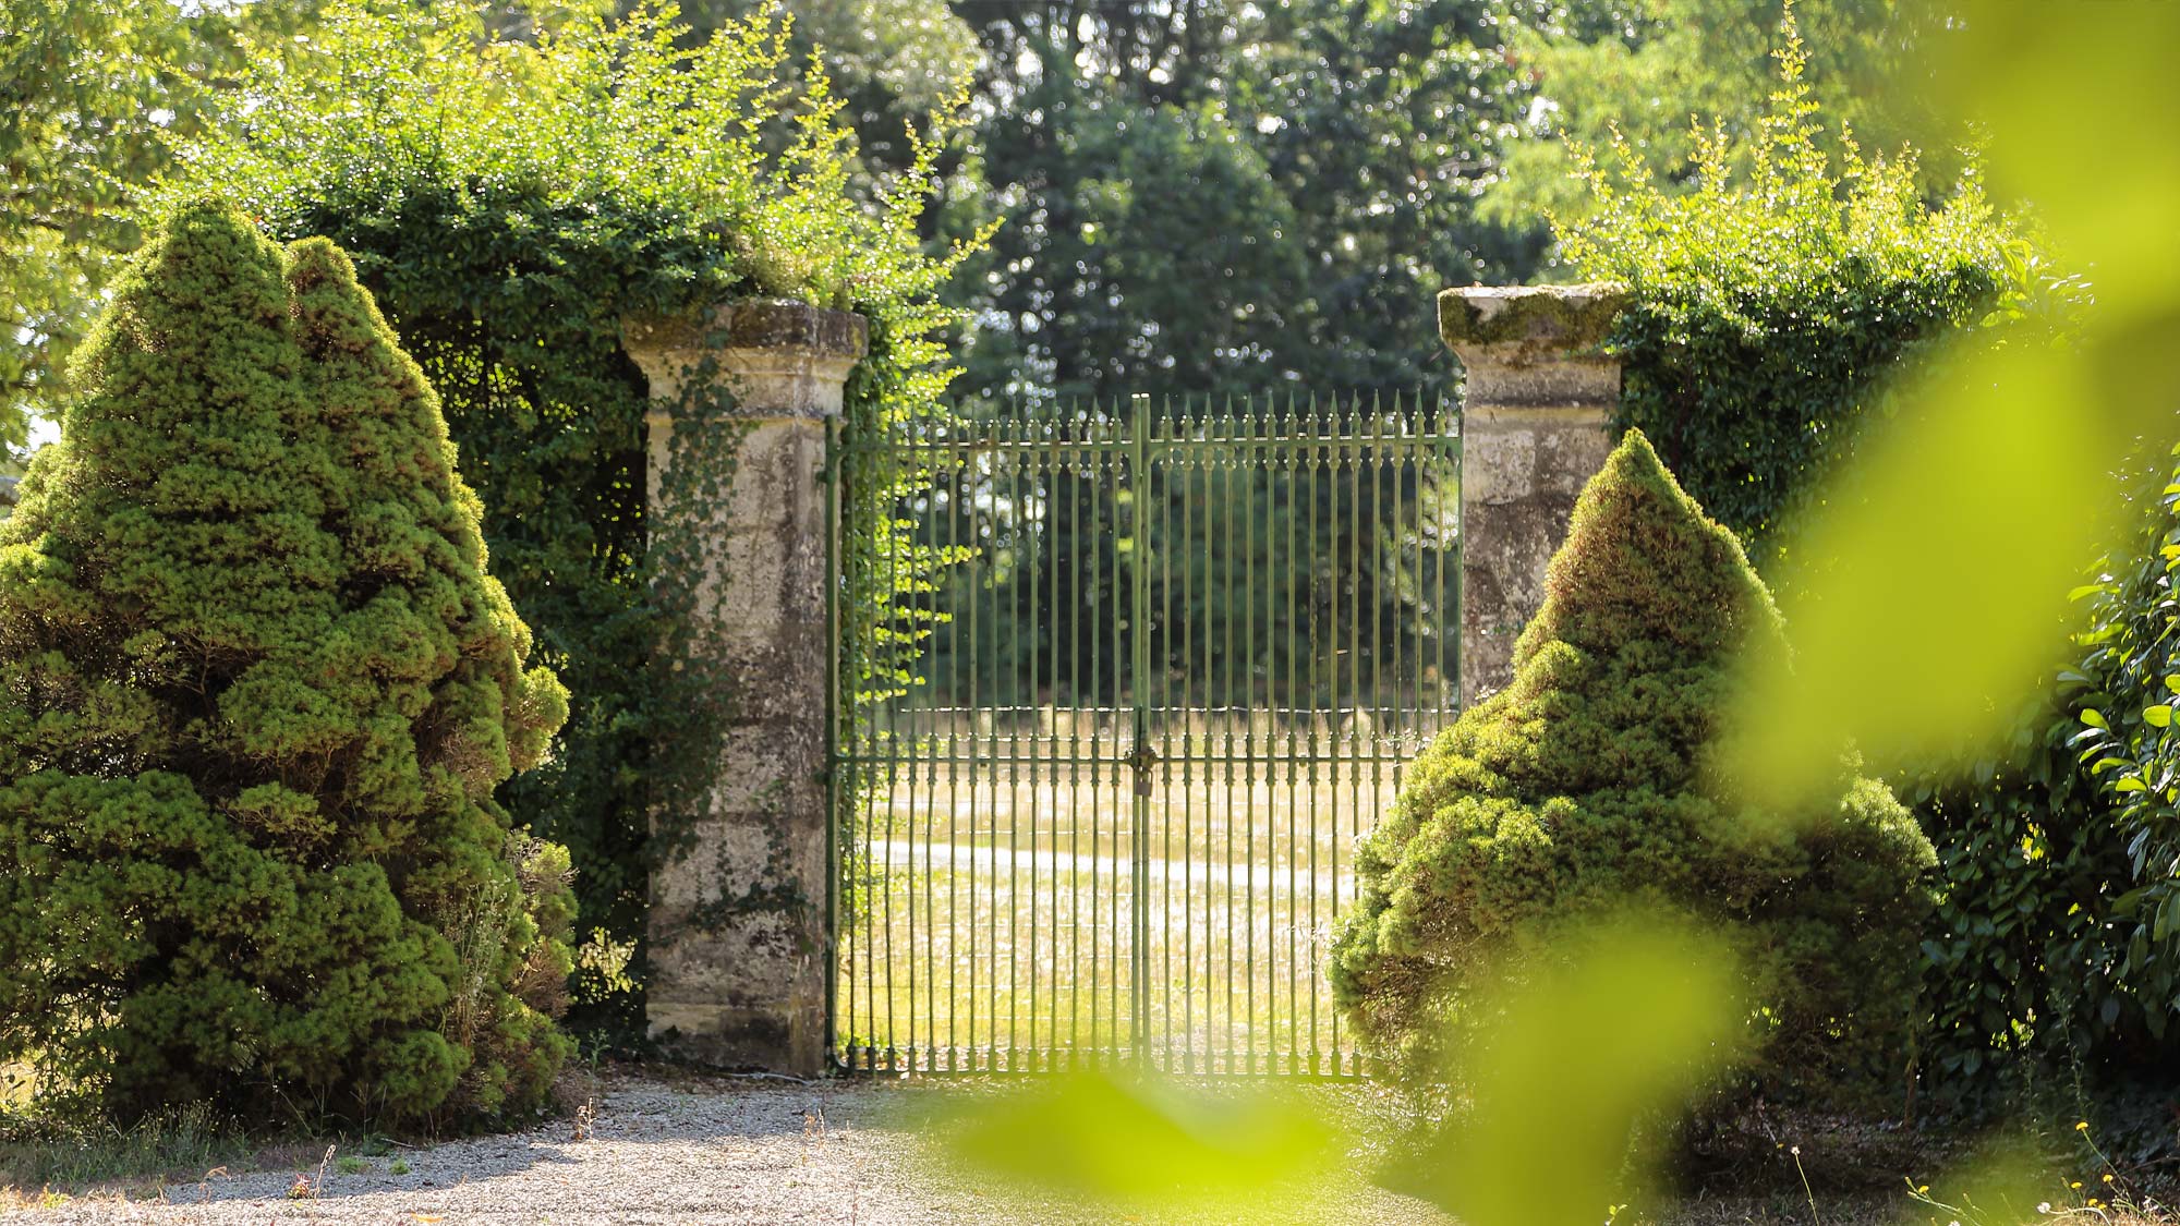
<path id="1" fill-rule="evenodd" d="M 1439 295 L 1439 334 L 1467 369 L 1461 417 L 1461 698 L 1513 678 L 1513 641 L 1543 604 L 1543 567 L 1574 495 L 1604 467 L 1620 362 L 1598 345 L 1618 286 Z"/>

